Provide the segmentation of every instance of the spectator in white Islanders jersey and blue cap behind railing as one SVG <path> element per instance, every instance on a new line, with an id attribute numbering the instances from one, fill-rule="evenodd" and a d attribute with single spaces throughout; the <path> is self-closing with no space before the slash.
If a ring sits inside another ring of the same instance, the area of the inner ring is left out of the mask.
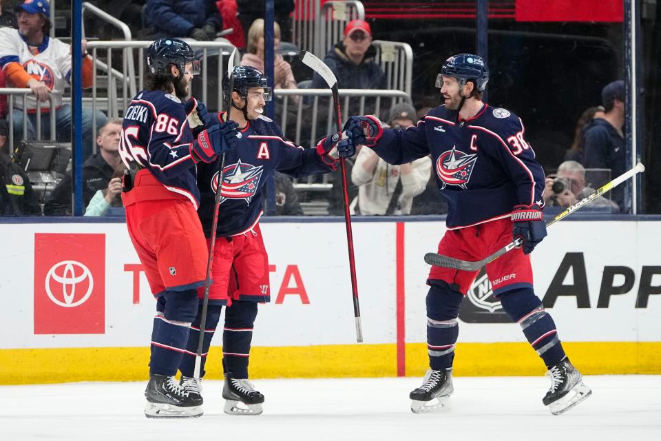
<path id="1" fill-rule="evenodd" d="M 50 136 L 50 102 L 52 96 L 56 114 L 57 141 L 71 141 L 71 106 L 62 103 L 65 83 L 71 76 L 71 46 L 48 37 L 50 32 L 50 6 L 45 0 L 25 0 L 16 6 L 19 29 L 0 28 L 0 68 L 8 85 L 30 88 L 28 119 L 23 121 L 23 99 L 14 99 L 12 118 L 14 139 L 23 138 L 23 123 L 28 127 L 28 139 L 36 138 L 36 100 L 41 102 L 41 136 Z M 92 85 L 92 58 L 87 56 L 87 41 L 83 40 L 83 88 Z M 79 55 L 80 56 L 80 55 Z M 83 108 L 83 157 L 92 153 L 92 119 L 96 127 L 105 124 L 101 111 L 92 114 Z M 52 139 L 52 136 L 51 136 Z"/>

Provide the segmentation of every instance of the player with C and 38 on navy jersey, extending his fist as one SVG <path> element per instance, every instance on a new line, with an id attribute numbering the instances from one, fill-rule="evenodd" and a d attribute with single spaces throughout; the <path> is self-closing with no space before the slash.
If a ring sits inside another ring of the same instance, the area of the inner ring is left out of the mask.
<path id="1" fill-rule="evenodd" d="M 582 387 L 580 373 L 565 356 L 556 326 L 534 294 L 528 254 L 546 236 L 542 219 L 545 176 L 535 161 L 525 130 L 512 112 L 483 103 L 489 73 L 481 57 L 450 57 L 437 78 L 444 104 L 416 127 L 384 130 L 373 116 L 353 116 L 345 130 L 355 143 L 372 147 L 391 164 L 431 154 L 441 194 L 448 199 L 448 231 L 439 254 L 481 260 L 513 238 L 514 249 L 486 265 L 494 295 L 523 328 L 527 340 L 552 375 L 543 403 L 554 413 L 577 404 L 565 402 Z M 414 412 L 442 407 L 452 393 L 452 361 L 459 334 L 459 305 L 477 271 L 432 267 L 427 283 L 427 340 L 430 370 L 412 391 Z M 567 397 L 569 396 L 569 397 Z"/>

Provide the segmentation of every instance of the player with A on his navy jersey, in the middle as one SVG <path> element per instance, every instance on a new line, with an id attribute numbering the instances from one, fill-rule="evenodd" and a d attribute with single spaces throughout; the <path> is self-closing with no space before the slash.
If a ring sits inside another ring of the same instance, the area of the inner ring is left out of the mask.
<path id="1" fill-rule="evenodd" d="M 226 376 L 223 397 L 228 400 L 225 411 L 245 413 L 235 409 L 234 404 L 241 401 L 248 405 L 249 413 L 261 413 L 264 396 L 253 389 L 247 378 L 257 304 L 270 300 L 269 260 L 259 225 L 264 185 L 276 170 L 293 177 L 335 170 L 335 145 L 339 134 L 326 136 L 315 149 L 304 150 L 286 141 L 280 127 L 262 114 L 265 101 L 271 99 L 271 89 L 266 86 L 264 74 L 256 68 L 235 67 L 233 89 L 229 90 L 227 75 L 222 87 L 226 101 L 231 94 L 229 119 L 238 123 L 240 132 L 238 147 L 224 155 L 216 232 L 211 232 L 211 217 L 218 191 L 221 160 L 219 158 L 215 163 L 201 165 L 198 170 L 198 185 L 202 194 L 198 215 L 207 238 L 211 234 L 218 237 L 213 254 L 213 284 L 209 291 L 209 308 L 204 328 L 202 375 L 220 311 L 223 305 L 227 305 L 222 328 L 222 362 Z M 207 119 L 201 110 L 198 114 L 202 121 Z M 213 119 L 216 123 L 224 121 L 227 113 L 211 116 L 211 123 Z M 198 292 L 202 298 L 203 289 Z M 196 327 L 200 320 L 201 309 L 193 322 L 187 352 L 180 366 L 182 384 L 196 395 L 200 393 L 199 385 L 191 377 L 199 341 L 199 328 Z"/>

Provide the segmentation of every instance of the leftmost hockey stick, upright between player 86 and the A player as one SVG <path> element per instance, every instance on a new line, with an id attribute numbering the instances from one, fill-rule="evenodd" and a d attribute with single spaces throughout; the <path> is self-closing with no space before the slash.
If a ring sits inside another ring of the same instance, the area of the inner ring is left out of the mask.
<path id="1" fill-rule="evenodd" d="M 227 78 L 229 79 L 229 99 L 227 99 L 227 118 L 232 106 L 232 90 L 234 88 L 234 65 L 236 48 L 227 60 Z M 207 260 L 207 276 L 204 278 L 204 298 L 202 299 L 202 316 L 200 317 L 200 340 L 198 352 L 195 356 L 194 378 L 200 379 L 202 369 L 202 347 L 204 347 L 204 330 L 207 328 L 207 309 L 209 309 L 209 287 L 211 287 L 211 266 L 213 265 L 213 249 L 216 247 L 216 229 L 218 228 L 218 210 L 220 209 L 220 194 L 222 193 L 222 171 L 225 168 L 225 154 L 220 155 L 220 170 L 218 170 L 218 185 L 216 186 L 216 201 L 213 203 L 213 217 L 211 218 L 211 239 L 209 240 L 209 259 Z M 213 182 L 211 183 L 213 185 Z M 213 187 L 212 187 L 213 188 Z"/>

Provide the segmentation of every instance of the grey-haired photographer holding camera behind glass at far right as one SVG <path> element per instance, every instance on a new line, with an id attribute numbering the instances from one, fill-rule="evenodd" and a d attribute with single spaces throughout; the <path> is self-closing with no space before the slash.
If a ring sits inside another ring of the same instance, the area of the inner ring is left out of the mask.
<path id="1" fill-rule="evenodd" d="M 558 173 L 546 177 L 544 199 L 547 207 L 569 207 L 594 193 L 585 184 L 585 168 L 576 161 L 565 161 L 558 167 Z M 609 213 L 620 212 L 620 207 L 609 199 L 598 196 L 587 208 L 605 209 Z"/>

